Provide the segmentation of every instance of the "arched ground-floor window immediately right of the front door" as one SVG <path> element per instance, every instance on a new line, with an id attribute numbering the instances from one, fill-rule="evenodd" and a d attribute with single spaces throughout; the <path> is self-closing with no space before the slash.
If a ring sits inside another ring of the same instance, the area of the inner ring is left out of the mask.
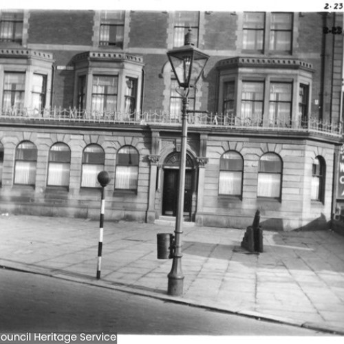
<path id="1" fill-rule="evenodd" d="M 236 151 L 227 151 L 219 160 L 219 195 L 241 196 L 244 160 Z"/>

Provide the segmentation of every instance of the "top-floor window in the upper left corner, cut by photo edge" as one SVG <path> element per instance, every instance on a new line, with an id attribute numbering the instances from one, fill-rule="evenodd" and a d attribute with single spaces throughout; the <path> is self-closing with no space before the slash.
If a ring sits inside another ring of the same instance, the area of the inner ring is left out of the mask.
<path id="1" fill-rule="evenodd" d="M 23 12 L 1 10 L 0 41 L 21 43 L 23 39 Z"/>

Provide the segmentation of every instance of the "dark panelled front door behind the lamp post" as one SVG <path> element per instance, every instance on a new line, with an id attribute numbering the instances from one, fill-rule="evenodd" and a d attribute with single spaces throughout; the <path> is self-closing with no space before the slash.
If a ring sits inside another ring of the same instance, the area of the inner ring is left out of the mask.
<path id="1" fill-rule="evenodd" d="M 164 169 L 162 215 L 175 216 L 178 203 L 178 169 Z M 193 171 L 186 170 L 184 189 L 184 217 L 190 218 L 192 205 Z"/>

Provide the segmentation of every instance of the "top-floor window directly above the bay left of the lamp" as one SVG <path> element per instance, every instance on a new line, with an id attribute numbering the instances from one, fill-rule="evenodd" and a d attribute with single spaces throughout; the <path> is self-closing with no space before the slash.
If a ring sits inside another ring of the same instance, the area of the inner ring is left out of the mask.
<path id="1" fill-rule="evenodd" d="M 99 45 L 123 47 L 125 11 L 100 12 Z"/>

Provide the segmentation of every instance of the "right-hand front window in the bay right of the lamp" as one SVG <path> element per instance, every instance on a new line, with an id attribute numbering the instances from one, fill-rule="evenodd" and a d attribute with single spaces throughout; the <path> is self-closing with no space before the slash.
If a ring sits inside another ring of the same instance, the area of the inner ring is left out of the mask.
<path id="1" fill-rule="evenodd" d="M 270 83 L 270 123 L 289 127 L 292 120 L 292 83 Z"/>

